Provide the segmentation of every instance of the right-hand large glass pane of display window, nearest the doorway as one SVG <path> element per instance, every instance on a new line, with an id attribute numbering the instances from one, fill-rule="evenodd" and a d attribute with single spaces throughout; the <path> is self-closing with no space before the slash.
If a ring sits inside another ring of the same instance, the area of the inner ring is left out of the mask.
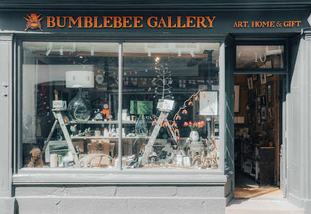
<path id="1" fill-rule="evenodd" d="M 123 43 L 123 168 L 219 166 L 219 48 Z"/>

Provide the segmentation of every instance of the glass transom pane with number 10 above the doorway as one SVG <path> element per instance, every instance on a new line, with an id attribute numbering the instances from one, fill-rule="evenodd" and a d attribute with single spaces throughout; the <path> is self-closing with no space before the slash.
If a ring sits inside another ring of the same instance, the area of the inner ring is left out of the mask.
<path id="1" fill-rule="evenodd" d="M 284 67 L 284 46 L 237 46 L 236 68 Z"/>

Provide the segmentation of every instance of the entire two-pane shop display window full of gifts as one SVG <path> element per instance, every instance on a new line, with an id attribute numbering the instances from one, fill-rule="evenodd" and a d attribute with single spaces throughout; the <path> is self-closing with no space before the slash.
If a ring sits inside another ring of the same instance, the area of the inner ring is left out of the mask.
<path id="1" fill-rule="evenodd" d="M 22 47 L 22 167 L 220 167 L 220 43 Z"/>

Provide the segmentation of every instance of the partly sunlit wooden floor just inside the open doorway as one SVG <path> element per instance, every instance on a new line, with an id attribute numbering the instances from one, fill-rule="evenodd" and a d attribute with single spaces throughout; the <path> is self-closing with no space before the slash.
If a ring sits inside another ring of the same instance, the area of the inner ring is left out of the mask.
<path id="1" fill-rule="evenodd" d="M 278 186 L 261 186 L 244 172 L 235 173 L 235 198 L 283 198 Z"/>

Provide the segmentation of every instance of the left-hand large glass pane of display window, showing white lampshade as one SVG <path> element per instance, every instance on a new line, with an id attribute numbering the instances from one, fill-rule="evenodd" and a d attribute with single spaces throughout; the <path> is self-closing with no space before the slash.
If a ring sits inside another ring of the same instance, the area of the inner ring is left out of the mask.
<path id="1" fill-rule="evenodd" d="M 118 47 L 23 43 L 24 167 L 117 165 L 113 158 L 118 153 Z"/>

